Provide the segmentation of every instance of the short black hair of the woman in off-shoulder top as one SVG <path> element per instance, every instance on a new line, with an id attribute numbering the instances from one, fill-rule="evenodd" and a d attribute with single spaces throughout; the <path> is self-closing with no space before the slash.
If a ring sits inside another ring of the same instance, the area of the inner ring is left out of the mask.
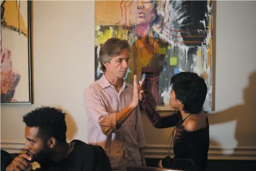
<path id="1" fill-rule="evenodd" d="M 184 105 L 185 113 L 198 114 L 202 111 L 207 94 L 204 78 L 193 72 L 180 72 L 171 78 L 170 84 L 176 99 Z"/>

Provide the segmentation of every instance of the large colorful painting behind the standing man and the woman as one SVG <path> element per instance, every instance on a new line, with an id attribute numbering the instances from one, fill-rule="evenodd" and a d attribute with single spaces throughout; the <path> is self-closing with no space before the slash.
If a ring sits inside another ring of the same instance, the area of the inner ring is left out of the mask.
<path id="1" fill-rule="evenodd" d="M 157 110 L 169 106 L 170 78 L 190 71 L 204 77 L 205 111 L 212 111 L 214 44 L 213 1 L 95 1 L 95 80 L 102 77 L 100 46 L 109 38 L 130 42 L 124 78 L 147 75 Z"/>

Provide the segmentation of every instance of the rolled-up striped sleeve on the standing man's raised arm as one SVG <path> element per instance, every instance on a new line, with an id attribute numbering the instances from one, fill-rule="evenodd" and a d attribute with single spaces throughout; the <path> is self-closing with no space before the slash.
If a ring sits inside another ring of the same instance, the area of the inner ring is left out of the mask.
<path id="1" fill-rule="evenodd" d="M 94 88 L 88 87 L 84 90 L 84 104 L 86 113 L 94 122 L 98 122 L 102 132 L 110 135 L 116 131 L 116 113 L 110 114 L 106 111 L 104 100 Z"/>

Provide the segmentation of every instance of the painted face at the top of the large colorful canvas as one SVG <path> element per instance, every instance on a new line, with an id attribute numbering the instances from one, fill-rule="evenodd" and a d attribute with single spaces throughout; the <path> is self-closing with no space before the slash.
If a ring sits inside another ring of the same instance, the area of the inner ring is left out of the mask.
<path id="1" fill-rule="evenodd" d="M 154 1 L 137 1 L 137 14 L 139 24 L 153 22 L 154 17 L 156 17 Z"/>

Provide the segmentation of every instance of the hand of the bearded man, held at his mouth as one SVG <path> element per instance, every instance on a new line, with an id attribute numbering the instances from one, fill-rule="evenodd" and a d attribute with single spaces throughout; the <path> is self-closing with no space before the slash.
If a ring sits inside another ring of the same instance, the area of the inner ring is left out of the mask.
<path id="1" fill-rule="evenodd" d="M 19 156 L 15 157 L 6 168 L 6 171 L 20 171 L 26 170 L 29 167 L 29 161 L 31 157 L 28 154 L 20 154 Z"/>

